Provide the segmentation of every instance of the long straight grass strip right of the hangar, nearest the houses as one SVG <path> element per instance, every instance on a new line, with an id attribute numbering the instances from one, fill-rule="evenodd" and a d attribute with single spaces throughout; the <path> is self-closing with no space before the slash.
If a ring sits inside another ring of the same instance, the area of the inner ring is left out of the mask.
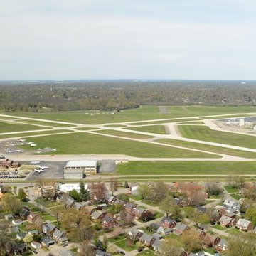
<path id="1" fill-rule="evenodd" d="M 129 161 L 117 165 L 117 174 L 256 174 L 256 161 Z"/>

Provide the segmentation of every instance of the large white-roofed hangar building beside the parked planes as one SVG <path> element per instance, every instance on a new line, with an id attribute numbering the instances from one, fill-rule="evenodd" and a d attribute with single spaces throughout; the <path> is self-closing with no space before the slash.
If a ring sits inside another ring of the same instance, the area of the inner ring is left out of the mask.
<path id="1" fill-rule="evenodd" d="M 68 161 L 64 168 L 65 179 L 82 179 L 88 174 L 97 174 L 97 161 Z"/>

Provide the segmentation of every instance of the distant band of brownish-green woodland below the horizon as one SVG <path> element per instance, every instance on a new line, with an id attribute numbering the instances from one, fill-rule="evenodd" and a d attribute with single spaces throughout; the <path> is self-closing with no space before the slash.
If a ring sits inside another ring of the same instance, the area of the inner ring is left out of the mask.
<path id="1" fill-rule="evenodd" d="M 0 82 L 5 111 L 125 110 L 140 105 L 256 105 L 256 82 Z"/>

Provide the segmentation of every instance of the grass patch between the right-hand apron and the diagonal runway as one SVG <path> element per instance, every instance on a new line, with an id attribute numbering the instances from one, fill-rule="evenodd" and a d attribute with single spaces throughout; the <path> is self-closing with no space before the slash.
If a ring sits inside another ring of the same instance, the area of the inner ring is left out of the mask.
<path id="1" fill-rule="evenodd" d="M 182 136 L 188 139 L 198 139 L 206 142 L 216 142 L 256 149 L 256 137 L 250 135 L 214 131 L 209 127 L 199 125 L 179 125 L 178 129 Z"/>

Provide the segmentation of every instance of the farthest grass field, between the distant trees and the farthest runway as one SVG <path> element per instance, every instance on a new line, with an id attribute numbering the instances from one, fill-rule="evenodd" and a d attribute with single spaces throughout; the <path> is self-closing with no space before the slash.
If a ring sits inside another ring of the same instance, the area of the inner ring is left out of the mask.
<path id="1" fill-rule="evenodd" d="M 254 113 L 256 107 L 215 107 L 215 106 L 173 106 L 168 107 L 167 113 L 160 113 L 157 106 L 142 106 L 138 109 L 124 110 L 121 112 L 5 112 L 9 115 L 20 117 L 33 117 L 38 119 L 49 119 L 63 122 L 77 122 L 80 124 L 106 124 L 114 122 L 134 122 L 150 119 L 170 119 L 178 117 L 196 117 L 217 114 L 236 114 L 236 113 Z M 91 115 L 93 114 L 93 115 Z"/>

